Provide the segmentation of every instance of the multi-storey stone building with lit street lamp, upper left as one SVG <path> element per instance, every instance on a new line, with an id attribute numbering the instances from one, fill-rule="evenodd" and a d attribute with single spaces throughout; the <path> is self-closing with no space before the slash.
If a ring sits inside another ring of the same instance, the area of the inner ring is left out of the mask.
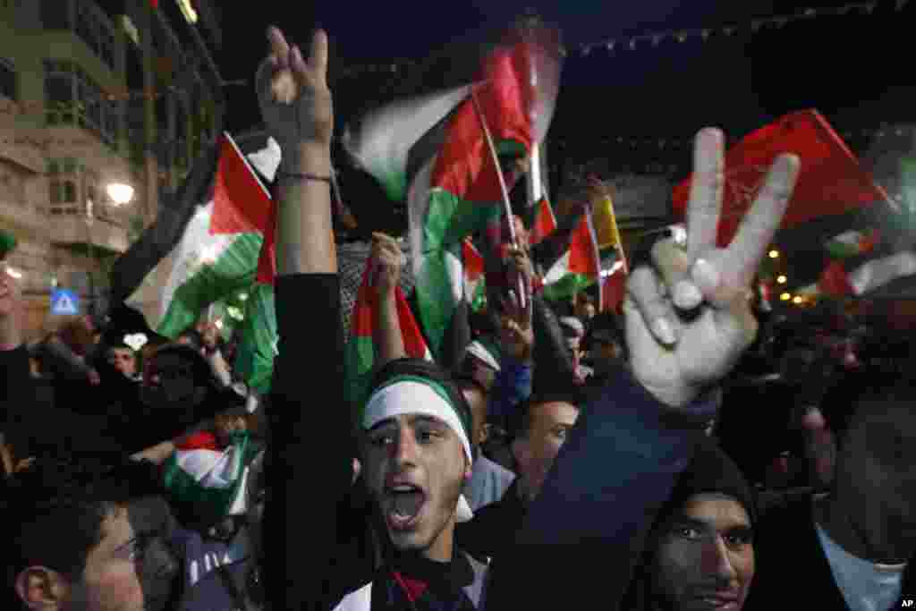
<path id="1" fill-rule="evenodd" d="M 104 311 L 107 268 L 222 131 L 204 0 L 0 0 L 0 228 L 27 327 L 50 291 Z"/>

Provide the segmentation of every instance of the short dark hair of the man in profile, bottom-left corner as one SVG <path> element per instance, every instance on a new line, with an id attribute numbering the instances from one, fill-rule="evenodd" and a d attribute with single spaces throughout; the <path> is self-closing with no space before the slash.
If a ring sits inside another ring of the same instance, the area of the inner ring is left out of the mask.
<path id="1" fill-rule="evenodd" d="M 102 524 L 116 507 L 162 493 L 156 468 L 113 457 L 39 459 L 5 482 L 7 585 L 29 566 L 45 566 L 80 581 Z"/>

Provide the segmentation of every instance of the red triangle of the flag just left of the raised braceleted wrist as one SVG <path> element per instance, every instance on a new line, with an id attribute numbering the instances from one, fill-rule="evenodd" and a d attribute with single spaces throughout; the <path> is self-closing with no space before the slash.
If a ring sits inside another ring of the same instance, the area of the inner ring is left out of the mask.
<path id="1" fill-rule="evenodd" d="M 242 151 L 231 136 L 224 135 L 213 184 L 210 233 L 263 235 L 257 281 L 264 284 L 273 284 L 277 275 L 273 205 L 270 192 L 261 184 Z"/>

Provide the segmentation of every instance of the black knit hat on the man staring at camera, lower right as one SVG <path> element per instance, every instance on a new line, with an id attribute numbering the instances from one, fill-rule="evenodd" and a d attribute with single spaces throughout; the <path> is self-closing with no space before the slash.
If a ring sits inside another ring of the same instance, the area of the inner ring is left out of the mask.
<path id="1" fill-rule="evenodd" d="M 656 524 L 661 524 L 681 509 L 694 495 L 718 493 L 734 498 L 747 511 L 751 526 L 757 522 L 757 503 L 747 479 L 714 440 L 704 437 L 687 470 L 678 478 L 668 501 L 661 507 Z"/>

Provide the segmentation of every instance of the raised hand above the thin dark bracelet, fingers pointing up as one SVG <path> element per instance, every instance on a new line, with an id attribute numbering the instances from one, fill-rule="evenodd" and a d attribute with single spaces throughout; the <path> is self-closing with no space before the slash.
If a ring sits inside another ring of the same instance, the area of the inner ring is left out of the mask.
<path id="1" fill-rule="evenodd" d="M 270 55 L 257 71 L 257 100 L 270 135 L 283 151 L 282 166 L 299 171 L 300 147 L 331 143 L 328 37 L 322 30 L 315 32 L 307 60 L 298 46 L 289 46 L 277 27 L 267 29 L 267 39 Z"/>

